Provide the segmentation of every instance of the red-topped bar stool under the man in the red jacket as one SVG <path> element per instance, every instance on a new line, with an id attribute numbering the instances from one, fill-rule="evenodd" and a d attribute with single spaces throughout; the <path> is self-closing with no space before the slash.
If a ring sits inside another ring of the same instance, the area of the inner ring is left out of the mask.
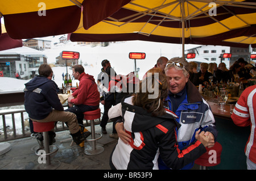
<path id="1" fill-rule="evenodd" d="M 104 148 L 102 146 L 97 145 L 97 140 L 100 140 L 100 138 L 102 137 L 101 133 L 95 133 L 95 128 L 94 128 L 94 120 L 96 119 L 100 119 L 101 117 L 101 109 L 98 108 L 97 110 L 93 110 L 93 111 L 86 111 L 84 112 L 84 119 L 85 120 L 90 120 L 90 132 L 92 139 L 91 140 L 87 140 L 87 142 L 91 142 L 91 145 L 87 145 L 85 147 L 84 153 L 86 155 L 96 155 L 96 154 L 100 154 L 104 151 Z M 96 138 L 96 134 L 99 135 L 98 138 Z"/>

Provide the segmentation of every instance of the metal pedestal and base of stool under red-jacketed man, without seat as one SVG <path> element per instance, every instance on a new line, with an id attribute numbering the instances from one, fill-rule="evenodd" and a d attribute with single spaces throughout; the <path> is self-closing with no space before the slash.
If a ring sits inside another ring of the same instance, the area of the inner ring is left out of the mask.
<path id="1" fill-rule="evenodd" d="M 95 127 L 94 127 L 94 120 L 90 120 L 90 132 L 92 133 L 92 140 L 87 140 L 87 142 L 92 142 L 92 146 L 87 145 L 85 147 L 84 153 L 87 155 L 96 155 L 100 154 L 104 151 L 104 148 L 102 146 L 97 145 L 97 140 L 99 140 L 102 137 L 102 134 L 95 133 Z M 96 134 L 100 135 L 98 138 L 96 138 Z"/>

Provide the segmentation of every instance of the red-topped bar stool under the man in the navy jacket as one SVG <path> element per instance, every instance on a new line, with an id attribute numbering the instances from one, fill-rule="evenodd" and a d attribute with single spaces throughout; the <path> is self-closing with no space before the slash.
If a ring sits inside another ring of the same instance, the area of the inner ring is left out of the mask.
<path id="1" fill-rule="evenodd" d="M 56 153 L 57 150 L 59 150 L 59 147 L 56 145 L 49 145 L 49 134 L 48 134 L 48 132 L 54 128 L 55 122 L 39 123 L 39 122 L 33 121 L 33 126 L 34 126 L 34 131 L 43 133 L 43 137 L 44 137 L 43 147 L 37 149 L 35 151 L 35 154 L 42 158 L 45 157 L 46 164 L 41 163 L 38 166 L 38 169 L 57 169 L 57 167 L 60 166 L 60 161 L 52 161 L 51 162 L 51 154 Z M 50 147 L 53 148 L 52 152 L 50 151 Z M 42 150 L 42 149 L 44 149 L 46 154 L 39 153 L 39 150 Z"/>

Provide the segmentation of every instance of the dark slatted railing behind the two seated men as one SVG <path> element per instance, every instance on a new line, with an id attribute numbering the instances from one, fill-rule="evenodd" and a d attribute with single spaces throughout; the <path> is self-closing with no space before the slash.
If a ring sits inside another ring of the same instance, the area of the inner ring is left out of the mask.
<path id="1" fill-rule="evenodd" d="M 20 122 L 17 120 L 15 121 L 15 115 L 14 115 L 15 113 L 20 113 Z M 7 111 L 7 112 L 0 113 L 0 116 L 2 116 L 2 121 L 3 121 L 3 135 L 0 134 L 0 142 L 15 140 L 15 139 L 31 136 L 30 130 L 27 130 L 25 128 L 26 126 L 24 124 L 24 113 L 26 113 L 26 110 Z M 8 131 L 8 127 L 6 126 L 6 115 L 11 115 L 11 123 L 13 124 L 13 127 L 10 131 Z M 0 118 L 0 120 L 1 120 L 1 118 Z M 17 130 L 16 130 L 17 123 L 21 124 L 21 133 L 20 134 L 17 133 Z M 94 124 L 100 124 L 100 119 L 98 121 L 95 121 Z M 88 120 L 84 120 L 84 126 L 85 127 L 90 126 L 90 123 Z M 55 132 L 65 131 L 65 130 L 68 130 L 68 127 L 65 125 L 65 123 L 58 122 L 58 124 L 55 125 Z"/>

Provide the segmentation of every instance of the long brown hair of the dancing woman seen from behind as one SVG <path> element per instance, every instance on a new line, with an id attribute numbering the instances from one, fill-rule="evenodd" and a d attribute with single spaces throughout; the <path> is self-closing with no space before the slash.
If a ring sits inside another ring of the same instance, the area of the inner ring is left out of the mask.
<path id="1" fill-rule="evenodd" d="M 154 92 L 148 91 L 147 83 L 150 82 L 152 83 L 152 89 L 154 89 Z M 158 84 L 158 86 L 156 86 L 156 84 Z M 157 87 L 158 90 L 155 90 Z M 145 88 L 146 92 L 144 91 Z M 158 95 L 156 98 L 149 98 L 149 95 L 154 95 L 157 93 Z M 147 112 L 152 112 L 152 116 L 162 116 L 166 112 L 163 107 L 163 100 L 167 97 L 167 94 L 168 83 L 166 80 L 166 75 L 163 74 L 162 69 L 153 68 L 147 72 L 147 77 L 139 82 L 139 91 L 136 94 L 133 94 L 133 104 L 134 106 L 142 107 Z"/>

